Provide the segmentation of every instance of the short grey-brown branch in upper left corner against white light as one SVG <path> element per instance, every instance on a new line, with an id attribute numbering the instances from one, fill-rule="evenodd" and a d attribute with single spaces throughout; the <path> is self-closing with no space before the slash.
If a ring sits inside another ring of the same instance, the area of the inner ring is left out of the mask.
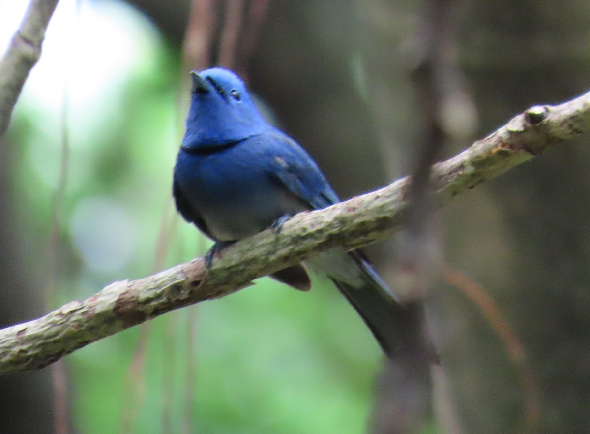
<path id="1" fill-rule="evenodd" d="M 58 0 L 32 0 L 21 27 L 0 61 L 0 138 L 6 132 L 22 86 L 41 56 L 45 30 Z"/>

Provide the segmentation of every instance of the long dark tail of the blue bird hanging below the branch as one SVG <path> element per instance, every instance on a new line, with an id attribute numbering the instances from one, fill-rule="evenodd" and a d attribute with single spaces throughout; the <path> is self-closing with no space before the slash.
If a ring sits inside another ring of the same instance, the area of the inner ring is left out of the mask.
<path id="1" fill-rule="evenodd" d="M 331 249 L 309 263 L 312 269 L 335 283 L 389 358 L 439 362 L 437 351 L 424 331 L 421 304 L 399 304 L 361 252 Z"/>

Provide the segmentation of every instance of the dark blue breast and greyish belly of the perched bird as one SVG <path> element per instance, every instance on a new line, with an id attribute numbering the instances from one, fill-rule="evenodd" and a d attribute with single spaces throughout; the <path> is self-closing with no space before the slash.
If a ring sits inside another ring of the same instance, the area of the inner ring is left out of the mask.
<path id="1" fill-rule="evenodd" d="M 176 181 L 214 239 L 239 240 L 304 209 L 273 182 L 264 161 L 239 145 L 211 154 L 179 153 Z"/>

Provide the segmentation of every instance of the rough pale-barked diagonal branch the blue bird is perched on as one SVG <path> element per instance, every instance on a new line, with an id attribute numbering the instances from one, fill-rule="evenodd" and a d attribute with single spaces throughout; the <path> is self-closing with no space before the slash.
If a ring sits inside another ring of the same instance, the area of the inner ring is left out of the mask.
<path id="1" fill-rule="evenodd" d="M 432 200 L 455 195 L 529 161 L 553 143 L 590 129 L 590 92 L 558 106 L 535 106 L 487 138 L 432 167 Z M 319 211 L 297 214 L 281 233 L 266 230 L 235 243 L 206 270 L 202 258 L 143 279 L 114 282 L 83 302 L 0 330 L 0 374 L 47 366 L 90 342 L 155 316 L 219 298 L 260 276 L 343 245 L 354 249 L 399 229 L 408 177 Z"/>

